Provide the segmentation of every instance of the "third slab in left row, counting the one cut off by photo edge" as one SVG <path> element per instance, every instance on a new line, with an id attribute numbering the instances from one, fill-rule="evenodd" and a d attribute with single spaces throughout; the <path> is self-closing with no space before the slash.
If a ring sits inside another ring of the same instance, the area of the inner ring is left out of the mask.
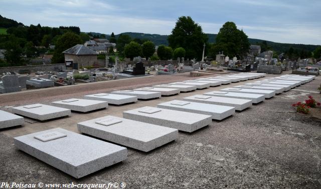
<path id="1" fill-rule="evenodd" d="M 86 100 L 71 98 L 67 100 L 60 100 L 52 102 L 54 106 L 61 108 L 71 109 L 72 111 L 78 112 L 89 112 L 93 110 L 98 110 L 102 108 L 108 108 L 108 102 L 100 100 Z"/>

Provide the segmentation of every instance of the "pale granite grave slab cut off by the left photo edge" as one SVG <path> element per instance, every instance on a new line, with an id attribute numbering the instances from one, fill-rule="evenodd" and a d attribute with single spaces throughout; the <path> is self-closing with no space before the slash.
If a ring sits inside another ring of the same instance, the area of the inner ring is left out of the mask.
<path id="1" fill-rule="evenodd" d="M 0 110 L 0 129 L 14 127 L 14 126 L 23 125 L 23 124 L 24 124 L 23 117 Z"/>

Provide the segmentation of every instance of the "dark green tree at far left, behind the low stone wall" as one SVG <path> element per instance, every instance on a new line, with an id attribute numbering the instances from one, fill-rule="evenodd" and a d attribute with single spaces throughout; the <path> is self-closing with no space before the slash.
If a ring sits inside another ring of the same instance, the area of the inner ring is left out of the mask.
<path id="1" fill-rule="evenodd" d="M 22 64 L 21 55 L 23 49 L 19 45 L 19 40 L 15 36 L 11 35 L 9 41 L 5 43 L 5 59 L 10 66 L 20 66 Z"/>

